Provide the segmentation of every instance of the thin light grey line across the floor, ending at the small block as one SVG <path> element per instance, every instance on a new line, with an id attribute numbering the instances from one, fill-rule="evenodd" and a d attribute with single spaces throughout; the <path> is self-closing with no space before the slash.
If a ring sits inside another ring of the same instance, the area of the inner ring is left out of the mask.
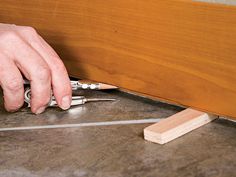
<path id="1" fill-rule="evenodd" d="M 61 124 L 61 125 L 40 125 L 28 127 L 7 127 L 0 128 L 0 132 L 4 131 L 20 131 L 20 130 L 38 130 L 38 129 L 55 129 L 55 128 L 77 128 L 77 127 L 94 127 L 94 126 L 109 126 L 109 125 L 129 125 L 129 124 L 146 124 L 156 123 L 162 118 L 156 119 L 140 119 L 140 120 L 120 120 L 120 121 L 106 121 L 106 122 L 89 122 L 79 124 Z"/>

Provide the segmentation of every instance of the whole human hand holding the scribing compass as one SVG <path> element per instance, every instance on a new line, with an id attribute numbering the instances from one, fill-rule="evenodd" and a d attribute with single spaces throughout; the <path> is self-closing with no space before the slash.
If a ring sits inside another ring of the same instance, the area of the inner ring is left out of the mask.
<path id="1" fill-rule="evenodd" d="M 51 90 L 62 109 L 70 107 L 70 80 L 56 52 L 33 28 L 0 23 L 0 85 L 7 111 L 24 104 L 22 74 L 30 81 L 33 113 L 45 110 Z"/>

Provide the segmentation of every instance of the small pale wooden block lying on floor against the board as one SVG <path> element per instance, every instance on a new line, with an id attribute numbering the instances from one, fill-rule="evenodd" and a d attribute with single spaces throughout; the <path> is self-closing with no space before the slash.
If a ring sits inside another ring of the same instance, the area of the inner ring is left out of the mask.
<path id="1" fill-rule="evenodd" d="M 165 144 L 216 118 L 215 115 L 188 108 L 145 128 L 144 139 Z"/>

